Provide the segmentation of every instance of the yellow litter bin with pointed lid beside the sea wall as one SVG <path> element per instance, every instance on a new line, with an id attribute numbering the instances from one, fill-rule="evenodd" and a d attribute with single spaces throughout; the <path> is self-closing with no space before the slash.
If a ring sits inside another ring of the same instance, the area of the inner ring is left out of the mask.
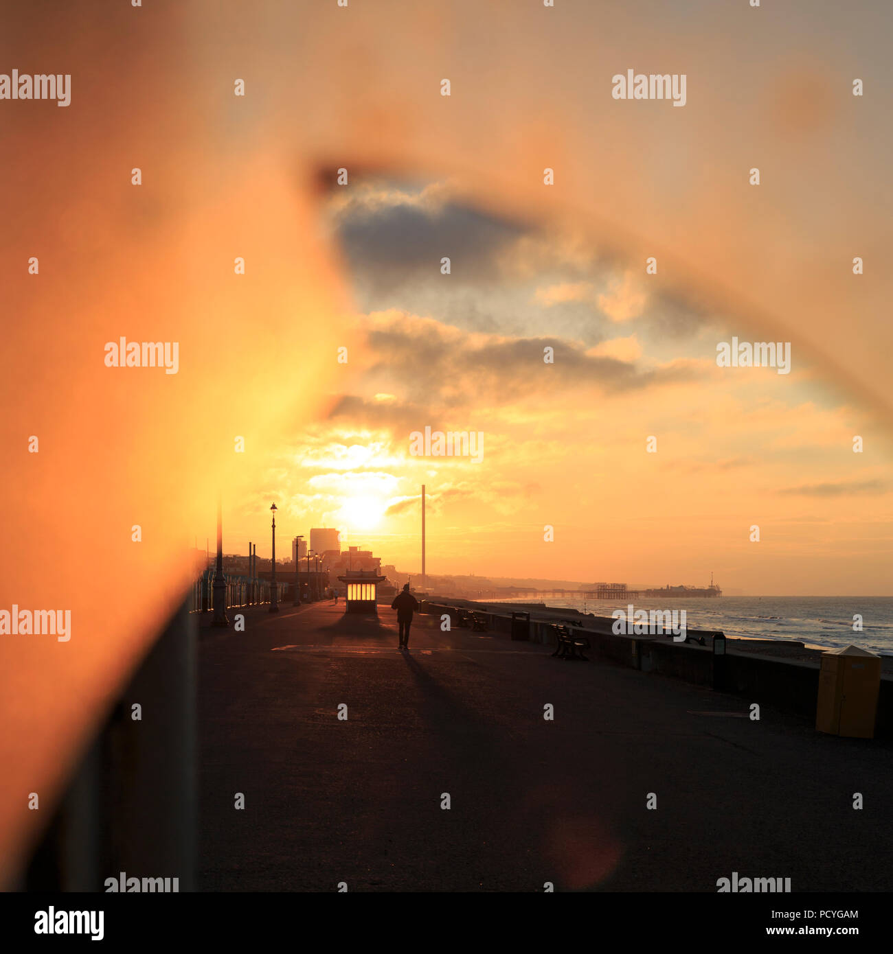
<path id="1" fill-rule="evenodd" d="M 874 738 L 881 656 L 847 646 L 821 654 L 816 728 L 832 736 Z"/>

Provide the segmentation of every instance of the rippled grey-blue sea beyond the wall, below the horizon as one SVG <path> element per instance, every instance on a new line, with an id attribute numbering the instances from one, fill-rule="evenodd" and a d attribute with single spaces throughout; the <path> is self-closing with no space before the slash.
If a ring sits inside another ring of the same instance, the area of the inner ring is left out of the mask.
<path id="1" fill-rule="evenodd" d="M 596 616 L 626 610 L 685 610 L 692 630 L 721 630 L 727 636 L 796 639 L 806 646 L 835 649 L 851 643 L 873 653 L 893 655 L 893 596 L 702 596 L 632 600 L 544 596 L 546 606 Z M 481 600 L 481 602 L 519 602 Z M 853 629 L 862 619 L 861 633 Z"/>

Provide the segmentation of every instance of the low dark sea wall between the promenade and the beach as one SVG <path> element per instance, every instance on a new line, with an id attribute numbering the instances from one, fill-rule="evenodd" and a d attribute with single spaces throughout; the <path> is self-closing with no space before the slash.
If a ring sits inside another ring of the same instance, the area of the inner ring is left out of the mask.
<path id="1" fill-rule="evenodd" d="M 462 609 L 482 612 L 487 617 L 490 633 L 511 636 L 511 612 L 478 610 L 474 604 L 461 600 L 458 603 L 462 604 Z M 453 603 L 423 602 L 421 612 L 435 615 L 446 613 L 450 616 L 450 625 L 457 625 L 457 605 Z M 561 611 L 551 618 L 555 622 L 561 621 Z M 698 686 L 713 685 L 712 632 L 688 630 L 695 639 L 704 637 L 706 645 L 700 646 L 674 642 L 667 636 L 615 635 L 610 632 L 610 620 L 604 619 L 585 619 L 585 625 L 575 629 L 588 637 L 592 646 L 591 652 L 587 653 L 590 659 L 614 662 L 643 673 L 668 675 Z M 554 645 L 552 623 L 544 619 L 531 619 L 528 639 L 544 646 Z M 729 640 L 727 645 L 732 652 L 727 653 L 725 661 L 719 663 L 724 670 L 716 674 L 720 678 L 717 688 L 739 695 L 748 702 L 772 705 L 785 712 L 815 718 L 819 663 L 781 659 L 761 653 L 735 653 L 733 640 Z M 889 675 L 881 677 L 875 735 L 893 738 L 893 678 Z"/>

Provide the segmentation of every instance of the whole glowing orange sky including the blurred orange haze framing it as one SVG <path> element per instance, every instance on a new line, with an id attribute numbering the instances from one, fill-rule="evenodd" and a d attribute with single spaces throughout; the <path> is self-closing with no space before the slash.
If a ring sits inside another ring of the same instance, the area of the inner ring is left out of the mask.
<path id="1" fill-rule="evenodd" d="M 0 73 L 72 77 L 0 100 L 0 603 L 73 626 L 0 639 L 0 881 L 219 495 L 227 550 L 276 500 L 413 570 L 425 483 L 431 572 L 891 592 L 886 0 L 0 17 Z M 685 107 L 614 99 L 629 69 Z M 791 373 L 717 367 L 732 335 Z M 121 336 L 179 372 L 105 366 Z M 426 425 L 482 459 L 409 454 Z"/>

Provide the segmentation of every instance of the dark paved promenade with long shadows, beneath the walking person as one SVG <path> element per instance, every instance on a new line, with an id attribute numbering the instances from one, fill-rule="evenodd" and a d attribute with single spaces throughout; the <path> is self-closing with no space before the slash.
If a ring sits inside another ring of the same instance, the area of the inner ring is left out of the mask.
<path id="1" fill-rule="evenodd" d="M 383 607 L 235 612 L 200 634 L 202 890 L 893 889 L 889 743 L 439 617 L 404 654 Z"/>

